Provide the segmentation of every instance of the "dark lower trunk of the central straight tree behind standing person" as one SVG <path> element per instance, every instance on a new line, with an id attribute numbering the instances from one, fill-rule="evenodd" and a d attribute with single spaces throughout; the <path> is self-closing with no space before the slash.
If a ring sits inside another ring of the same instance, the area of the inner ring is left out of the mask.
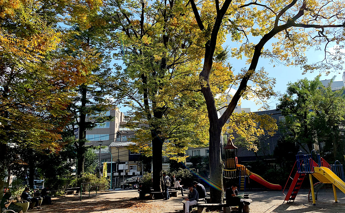
<path id="1" fill-rule="evenodd" d="M 152 180 L 152 187 L 155 192 L 161 192 L 161 173 L 162 173 L 162 149 L 163 149 L 163 142 L 159 138 L 161 134 L 160 130 L 153 129 L 151 130 L 152 136 L 152 167 L 153 167 L 153 180 Z"/>

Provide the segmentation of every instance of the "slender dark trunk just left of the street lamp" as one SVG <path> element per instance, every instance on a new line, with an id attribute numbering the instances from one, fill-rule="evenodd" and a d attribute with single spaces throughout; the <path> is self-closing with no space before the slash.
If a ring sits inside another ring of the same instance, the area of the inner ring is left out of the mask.
<path id="1" fill-rule="evenodd" d="M 85 163 L 85 138 L 86 138 L 86 101 L 87 101 L 87 86 L 82 84 L 81 88 L 81 107 L 79 110 L 79 145 L 77 146 L 77 159 L 78 159 L 78 167 L 77 167 L 77 175 L 84 173 L 84 163 Z"/>

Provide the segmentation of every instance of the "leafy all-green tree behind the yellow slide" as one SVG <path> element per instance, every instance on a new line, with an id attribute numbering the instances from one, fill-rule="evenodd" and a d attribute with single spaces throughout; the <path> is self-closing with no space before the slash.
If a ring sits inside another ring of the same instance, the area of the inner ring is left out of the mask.
<path id="1" fill-rule="evenodd" d="M 277 109 L 285 116 L 283 126 L 306 153 L 313 149 L 313 144 L 324 142 L 326 147 L 332 147 L 334 159 L 337 155 L 342 159 L 339 156 L 343 151 L 337 152 L 340 140 L 337 125 L 345 120 L 344 89 L 332 91 L 332 82 L 324 86 L 318 76 L 289 83 Z"/>

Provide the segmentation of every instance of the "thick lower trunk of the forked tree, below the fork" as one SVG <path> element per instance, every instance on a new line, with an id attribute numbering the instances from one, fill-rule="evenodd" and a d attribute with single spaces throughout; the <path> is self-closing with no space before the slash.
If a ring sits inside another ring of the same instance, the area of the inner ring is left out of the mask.
<path id="1" fill-rule="evenodd" d="M 223 191 L 223 169 L 224 164 L 220 156 L 221 128 L 214 125 L 216 122 L 210 120 L 210 145 L 209 145 L 209 166 L 210 166 L 210 193 L 211 203 L 222 203 Z"/>

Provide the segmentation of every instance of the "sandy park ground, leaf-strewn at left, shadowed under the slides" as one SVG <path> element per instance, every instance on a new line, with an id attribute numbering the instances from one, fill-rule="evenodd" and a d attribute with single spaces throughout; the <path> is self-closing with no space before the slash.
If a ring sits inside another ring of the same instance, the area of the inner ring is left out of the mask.
<path id="1" fill-rule="evenodd" d="M 345 213 L 345 194 L 337 190 L 338 203 L 334 202 L 332 188 L 322 188 L 318 200 L 313 206 L 308 202 L 308 189 L 301 189 L 295 202 L 284 203 L 282 191 L 248 191 L 252 213 Z M 61 196 L 52 199 L 53 205 L 43 205 L 41 210 L 30 213 L 181 213 L 182 197 L 171 197 L 170 200 L 139 200 L 135 190 L 115 190 L 80 196 Z M 196 211 L 194 211 L 196 213 Z"/>

